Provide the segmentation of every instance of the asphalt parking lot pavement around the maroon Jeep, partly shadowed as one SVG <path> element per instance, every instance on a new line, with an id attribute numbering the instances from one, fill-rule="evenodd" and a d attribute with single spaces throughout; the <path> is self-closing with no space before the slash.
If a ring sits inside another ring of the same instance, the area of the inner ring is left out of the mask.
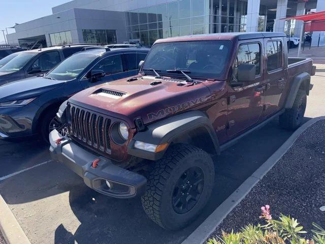
<path id="1" fill-rule="evenodd" d="M 306 120 L 325 114 L 324 78 L 322 72 L 312 78 Z M 198 220 L 181 231 L 154 224 L 138 198 L 114 199 L 87 188 L 77 175 L 51 161 L 48 146 L 37 139 L 0 141 L 0 193 L 32 243 L 180 243 L 291 133 L 273 120 L 215 158 L 212 197 Z"/>

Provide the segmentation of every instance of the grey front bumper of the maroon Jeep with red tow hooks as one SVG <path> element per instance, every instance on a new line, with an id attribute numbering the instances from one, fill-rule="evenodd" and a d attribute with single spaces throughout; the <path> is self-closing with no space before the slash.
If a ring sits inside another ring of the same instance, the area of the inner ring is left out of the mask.
<path id="1" fill-rule="evenodd" d="M 147 179 L 135 172 L 113 164 L 105 157 L 97 156 L 64 138 L 58 145 L 60 134 L 54 130 L 50 133 L 50 153 L 52 159 L 63 163 L 80 177 L 91 189 L 116 198 L 132 198 L 145 192 Z M 99 159 L 98 166 L 92 167 L 94 160 Z M 110 188 L 106 181 L 109 182 Z"/>

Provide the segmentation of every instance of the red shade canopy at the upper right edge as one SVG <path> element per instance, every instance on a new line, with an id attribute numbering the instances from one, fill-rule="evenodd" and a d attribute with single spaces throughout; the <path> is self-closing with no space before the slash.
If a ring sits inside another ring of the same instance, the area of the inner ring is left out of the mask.
<path id="1" fill-rule="evenodd" d="M 305 22 L 305 32 L 325 31 L 325 11 L 285 18 Z"/>

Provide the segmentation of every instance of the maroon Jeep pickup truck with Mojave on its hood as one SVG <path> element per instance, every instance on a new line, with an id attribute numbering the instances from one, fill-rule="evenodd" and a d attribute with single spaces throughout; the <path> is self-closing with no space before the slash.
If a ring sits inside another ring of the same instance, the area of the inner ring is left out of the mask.
<path id="1" fill-rule="evenodd" d="M 141 196 L 165 229 L 182 228 L 211 195 L 214 163 L 238 139 L 279 116 L 301 123 L 315 67 L 288 58 L 284 33 L 225 33 L 157 40 L 137 77 L 83 90 L 50 133 L 51 155 L 95 191 Z"/>

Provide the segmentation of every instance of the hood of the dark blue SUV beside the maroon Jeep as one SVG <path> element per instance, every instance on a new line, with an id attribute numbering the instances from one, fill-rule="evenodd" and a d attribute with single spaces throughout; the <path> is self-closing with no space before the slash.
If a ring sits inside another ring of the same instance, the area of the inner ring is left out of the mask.
<path id="1" fill-rule="evenodd" d="M 65 81 L 31 77 L 0 86 L 0 102 L 38 97 Z"/>

